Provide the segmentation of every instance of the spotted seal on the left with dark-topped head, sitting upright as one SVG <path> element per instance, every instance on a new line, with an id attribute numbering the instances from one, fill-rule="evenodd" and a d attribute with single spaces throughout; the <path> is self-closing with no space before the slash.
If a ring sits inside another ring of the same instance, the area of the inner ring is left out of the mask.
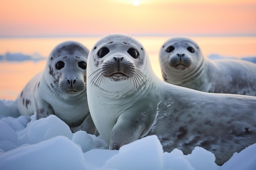
<path id="1" fill-rule="evenodd" d="M 37 119 L 54 114 L 73 132 L 97 133 L 86 95 L 88 53 L 79 42 L 58 44 L 49 54 L 45 69 L 34 76 L 18 96 L 20 114 L 36 113 Z"/>

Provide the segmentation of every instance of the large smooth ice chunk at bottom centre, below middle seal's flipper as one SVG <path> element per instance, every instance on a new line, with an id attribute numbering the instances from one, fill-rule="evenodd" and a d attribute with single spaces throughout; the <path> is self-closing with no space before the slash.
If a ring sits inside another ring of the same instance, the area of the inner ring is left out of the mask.
<path id="1" fill-rule="evenodd" d="M 161 170 L 163 148 L 156 135 L 147 136 L 120 148 L 103 168 L 118 170 Z"/>

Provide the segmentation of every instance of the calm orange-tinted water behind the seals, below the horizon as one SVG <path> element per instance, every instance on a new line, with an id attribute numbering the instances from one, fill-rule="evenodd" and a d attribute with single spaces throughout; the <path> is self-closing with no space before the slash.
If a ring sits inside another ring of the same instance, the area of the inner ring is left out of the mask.
<path id="1" fill-rule="evenodd" d="M 145 47 L 155 73 L 162 79 L 158 61 L 159 49 L 169 37 L 135 37 Z M 190 37 L 201 47 L 204 55 L 219 54 L 226 57 L 256 56 L 256 37 Z M 97 38 L 2 38 L 0 55 L 5 53 L 35 52 L 45 57 L 57 44 L 74 40 L 91 49 Z M 0 99 L 16 99 L 22 88 L 36 73 L 43 70 L 46 60 L 40 62 L 0 62 Z"/>

